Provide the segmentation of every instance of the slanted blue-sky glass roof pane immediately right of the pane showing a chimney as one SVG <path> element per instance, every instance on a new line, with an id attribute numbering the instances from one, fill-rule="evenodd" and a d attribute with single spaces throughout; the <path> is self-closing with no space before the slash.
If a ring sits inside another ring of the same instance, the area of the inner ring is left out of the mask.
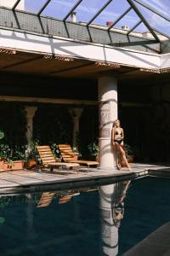
<path id="1" fill-rule="evenodd" d="M 113 0 L 113 2 L 111 2 L 111 4 L 105 8 L 105 10 L 94 20 L 93 23 L 103 26 L 105 26 L 107 22 L 111 24 L 111 22 L 121 16 L 128 8 L 129 4 L 126 0 L 122 0 L 121 4 L 120 0 Z"/>

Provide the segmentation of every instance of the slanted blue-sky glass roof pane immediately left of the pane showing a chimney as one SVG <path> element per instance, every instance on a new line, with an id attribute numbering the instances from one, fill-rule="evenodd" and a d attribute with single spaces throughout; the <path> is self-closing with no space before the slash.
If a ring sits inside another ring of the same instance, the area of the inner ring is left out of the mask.
<path id="1" fill-rule="evenodd" d="M 78 0 L 52 0 L 43 10 L 42 15 L 62 20 L 77 2 Z"/>

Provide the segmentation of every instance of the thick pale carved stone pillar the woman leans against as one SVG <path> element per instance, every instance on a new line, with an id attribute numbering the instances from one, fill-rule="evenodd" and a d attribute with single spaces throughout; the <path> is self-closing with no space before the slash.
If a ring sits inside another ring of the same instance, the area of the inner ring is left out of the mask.
<path id="1" fill-rule="evenodd" d="M 116 167 L 116 152 L 111 145 L 111 129 L 117 119 L 117 79 L 99 78 L 99 168 Z"/>

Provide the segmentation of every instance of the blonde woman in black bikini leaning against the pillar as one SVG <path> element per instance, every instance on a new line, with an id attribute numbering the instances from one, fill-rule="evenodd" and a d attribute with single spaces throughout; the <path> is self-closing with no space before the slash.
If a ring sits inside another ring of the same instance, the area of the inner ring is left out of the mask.
<path id="1" fill-rule="evenodd" d="M 112 131 L 111 131 L 111 137 L 112 137 L 112 145 L 113 148 L 117 151 L 118 153 L 118 164 L 117 168 L 120 170 L 121 165 L 120 165 L 120 158 L 125 161 L 125 164 L 128 168 L 129 171 L 131 171 L 131 167 L 129 166 L 125 154 L 125 150 L 123 148 L 123 138 L 124 138 L 124 132 L 121 127 L 120 120 L 115 121 L 115 125 L 113 125 Z"/>

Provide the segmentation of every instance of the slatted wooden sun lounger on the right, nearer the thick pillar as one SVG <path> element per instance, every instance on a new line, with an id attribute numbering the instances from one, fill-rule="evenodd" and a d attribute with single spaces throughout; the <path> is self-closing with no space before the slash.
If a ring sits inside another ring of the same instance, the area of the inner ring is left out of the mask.
<path id="1" fill-rule="evenodd" d="M 59 151 L 63 160 L 67 163 L 77 163 L 81 166 L 99 166 L 99 162 L 91 160 L 75 160 L 75 155 L 69 144 L 59 144 Z"/>

